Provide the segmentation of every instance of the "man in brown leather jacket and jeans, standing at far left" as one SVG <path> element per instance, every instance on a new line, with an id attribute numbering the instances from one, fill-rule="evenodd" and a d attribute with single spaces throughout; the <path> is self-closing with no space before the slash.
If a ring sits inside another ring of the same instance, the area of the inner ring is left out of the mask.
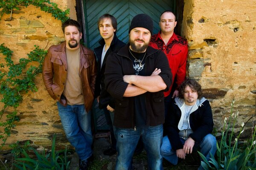
<path id="1" fill-rule="evenodd" d="M 79 156 L 79 170 L 87 170 L 92 156 L 91 113 L 96 81 L 93 51 L 80 45 L 81 27 L 75 20 L 62 23 L 65 42 L 52 45 L 43 64 L 44 85 L 57 100 L 59 116 L 70 144 Z"/>

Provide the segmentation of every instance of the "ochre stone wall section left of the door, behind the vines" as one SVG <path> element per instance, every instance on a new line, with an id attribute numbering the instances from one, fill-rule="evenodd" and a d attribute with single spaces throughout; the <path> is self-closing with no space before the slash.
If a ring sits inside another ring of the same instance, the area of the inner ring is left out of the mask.
<path id="1" fill-rule="evenodd" d="M 52 2 L 57 3 L 58 7 L 63 10 L 70 8 L 70 18 L 76 20 L 75 0 L 52 0 Z M 13 51 L 12 59 L 15 63 L 20 58 L 26 58 L 26 54 L 35 49 L 34 45 L 47 50 L 51 45 L 64 41 L 61 21 L 41 11 L 40 8 L 20 7 L 20 11 L 14 11 L 12 14 L 12 20 L 9 18 L 10 14 L 4 14 L 0 20 L 0 44 L 4 43 Z M 0 54 L 0 62 L 4 62 L 2 54 Z M 57 134 L 57 147 L 64 148 L 66 144 L 69 144 L 62 130 L 56 102 L 49 97 L 42 75 L 38 75 L 35 81 L 38 92 L 23 96 L 23 102 L 17 108 L 20 121 L 15 122 L 16 126 L 12 135 L 8 138 L 6 147 L 0 150 L 0 155 L 9 153 L 8 145 L 17 141 L 22 144 L 23 141 L 30 140 L 37 148 L 49 148 L 52 143 L 52 134 L 55 133 Z M 2 107 L 3 103 L 0 103 L 0 109 Z M 6 114 L 11 111 L 11 108 L 7 109 Z M 0 130 L 3 132 L 3 129 Z"/>

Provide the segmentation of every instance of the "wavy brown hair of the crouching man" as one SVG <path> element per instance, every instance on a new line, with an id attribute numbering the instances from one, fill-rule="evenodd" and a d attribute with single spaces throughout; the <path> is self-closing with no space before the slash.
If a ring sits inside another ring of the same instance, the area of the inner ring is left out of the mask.
<path id="1" fill-rule="evenodd" d="M 184 80 L 180 86 L 179 86 L 179 98 L 180 99 L 184 99 L 184 92 L 185 92 L 185 88 L 186 86 L 189 86 L 192 90 L 196 91 L 198 93 L 198 99 L 201 99 L 203 96 L 202 93 L 202 87 L 201 85 L 195 81 L 195 79 L 186 79 Z"/>

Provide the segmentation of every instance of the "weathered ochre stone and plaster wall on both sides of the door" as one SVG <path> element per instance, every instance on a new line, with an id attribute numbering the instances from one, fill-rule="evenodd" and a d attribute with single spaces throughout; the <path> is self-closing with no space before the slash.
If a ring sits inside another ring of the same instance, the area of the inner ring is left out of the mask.
<path id="1" fill-rule="evenodd" d="M 52 2 L 62 9 L 70 8 L 70 17 L 76 19 L 75 0 Z M 255 114 L 255 8 L 255 0 L 184 0 L 182 36 L 189 41 L 188 77 L 201 83 L 211 102 L 217 130 L 224 117 L 229 116 L 232 99 L 235 112 L 239 111 L 236 127 Z M 14 51 L 12 59 L 16 63 L 26 58 L 34 45 L 47 50 L 50 45 L 64 41 L 61 21 L 35 6 L 21 7 L 12 17 L 9 20 L 9 14 L 4 14 L 0 20 L 0 44 L 5 43 Z M 3 61 L 0 54 L 0 62 Z M 54 133 L 58 136 L 58 147 L 68 144 L 56 103 L 47 94 L 41 75 L 36 77 L 36 84 L 38 92 L 26 94 L 17 108 L 20 121 L 15 122 L 13 134 L 0 154 L 10 152 L 8 145 L 16 141 L 30 140 L 35 147 L 49 147 Z M 9 111 L 12 110 L 6 114 Z M 252 127 L 253 120 L 255 117 L 247 127 Z"/>

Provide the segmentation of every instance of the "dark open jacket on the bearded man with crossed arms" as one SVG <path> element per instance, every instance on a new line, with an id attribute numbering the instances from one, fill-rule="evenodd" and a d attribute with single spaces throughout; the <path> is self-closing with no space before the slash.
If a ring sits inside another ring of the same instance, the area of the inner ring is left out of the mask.
<path id="1" fill-rule="evenodd" d="M 122 47 L 117 53 L 109 55 L 105 69 L 105 85 L 116 103 L 114 125 L 120 128 L 134 128 L 135 110 L 134 97 L 123 97 L 128 86 L 123 81 L 124 75 L 135 75 L 133 62 L 129 58 L 129 45 Z M 145 58 L 145 76 L 150 76 L 155 68 L 160 68 L 163 81 L 167 88 L 172 83 L 172 73 L 166 55 L 152 47 L 147 48 Z M 157 126 L 164 123 L 163 91 L 146 92 L 146 125 Z"/>

